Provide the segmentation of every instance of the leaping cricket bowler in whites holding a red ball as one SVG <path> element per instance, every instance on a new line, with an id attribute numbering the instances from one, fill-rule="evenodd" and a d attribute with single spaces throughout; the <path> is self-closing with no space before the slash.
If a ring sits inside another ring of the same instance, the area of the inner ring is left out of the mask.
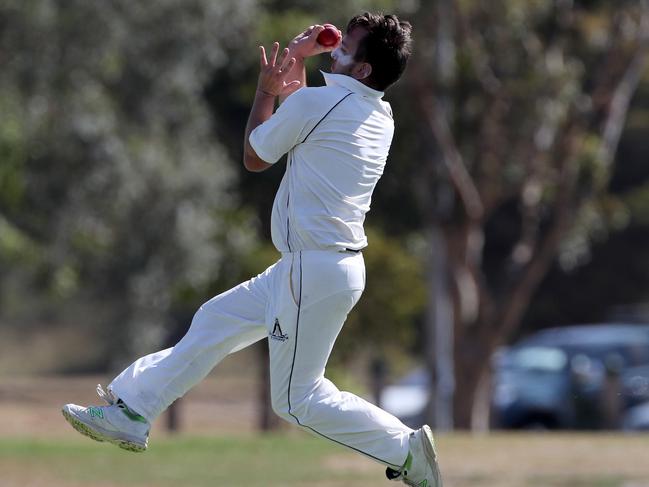
<path id="1" fill-rule="evenodd" d="M 136 360 L 107 391 L 98 386 L 108 405 L 65 405 L 63 415 L 80 433 L 145 450 L 151 423 L 173 401 L 228 354 L 267 338 L 280 417 L 372 458 L 390 480 L 441 487 L 428 426 L 412 430 L 324 376 L 365 287 L 363 222 L 394 133 L 383 92 L 411 52 L 411 26 L 395 15 L 357 15 L 344 36 L 319 43 L 330 28 L 311 26 L 281 52 L 278 43 L 269 53 L 260 47 L 243 163 L 264 171 L 288 155 L 271 216 L 281 258 L 203 304 L 174 347 Z M 326 85 L 307 87 L 304 60 L 325 52 L 332 57 Z"/>

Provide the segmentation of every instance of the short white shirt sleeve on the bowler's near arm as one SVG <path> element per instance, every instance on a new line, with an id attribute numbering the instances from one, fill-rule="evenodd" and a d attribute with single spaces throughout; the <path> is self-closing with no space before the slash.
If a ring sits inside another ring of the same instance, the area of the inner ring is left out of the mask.
<path id="1" fill-rule="evenodd" d="M 265 162 L 276 163 L 300 142 L 310 118 L 306 91 L 307 88 L 302 88 L 286 98 L 268 120 L 250 133 L 250 145 Z"/>

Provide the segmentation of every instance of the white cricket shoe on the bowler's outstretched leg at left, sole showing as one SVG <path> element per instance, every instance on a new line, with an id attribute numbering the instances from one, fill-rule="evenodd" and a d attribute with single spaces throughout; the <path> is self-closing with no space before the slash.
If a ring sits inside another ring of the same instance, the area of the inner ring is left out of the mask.
<path id="1" fill-rule="evenodd" d="M 107 441 L 124 450 L 141 452 L 149 442 L 149 422 L 129 409 L 121 399 L 109 390 L 97 386 L 97 394 L 108 406 L 83 407 L 66 404 L 62 413 L 65 419 L 82 435 L 96 441 Z"/>

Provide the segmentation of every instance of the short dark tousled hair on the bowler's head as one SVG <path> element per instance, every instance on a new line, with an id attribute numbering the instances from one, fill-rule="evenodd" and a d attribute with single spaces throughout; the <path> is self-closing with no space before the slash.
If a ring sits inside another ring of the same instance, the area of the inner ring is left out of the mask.
<path id="1" fill-rule="evenodd" d="M 412 50 L 412 26 L 410 22 L 399 20 L 396 15 L 365 12 L 349 21 L 347 32 L 356 27 L 365 29 L 367 35 L 360 42 L 354 60 L 372 66 L 369 84 L 383 91 L 397 81 L 406 69 Z"/>

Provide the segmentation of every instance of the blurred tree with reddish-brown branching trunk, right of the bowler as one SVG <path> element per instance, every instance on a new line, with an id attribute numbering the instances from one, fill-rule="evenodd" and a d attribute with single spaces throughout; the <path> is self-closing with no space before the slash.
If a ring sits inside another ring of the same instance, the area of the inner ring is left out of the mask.
<path id="1" fill-rule="evenodd" d="M 620 222 L 607 183 L 645 66 L 649 11 L 637 1 L 443 3 L 450 18 L 439 4 L 417 16 L 419 45 L 436 51 L 419 50 L 410 69 L 421 142 L 407 170 L 424 221 L 443 236 L 454 419 L 465 428 L 492 352 L 555 257 L 597 222 Z"/>

